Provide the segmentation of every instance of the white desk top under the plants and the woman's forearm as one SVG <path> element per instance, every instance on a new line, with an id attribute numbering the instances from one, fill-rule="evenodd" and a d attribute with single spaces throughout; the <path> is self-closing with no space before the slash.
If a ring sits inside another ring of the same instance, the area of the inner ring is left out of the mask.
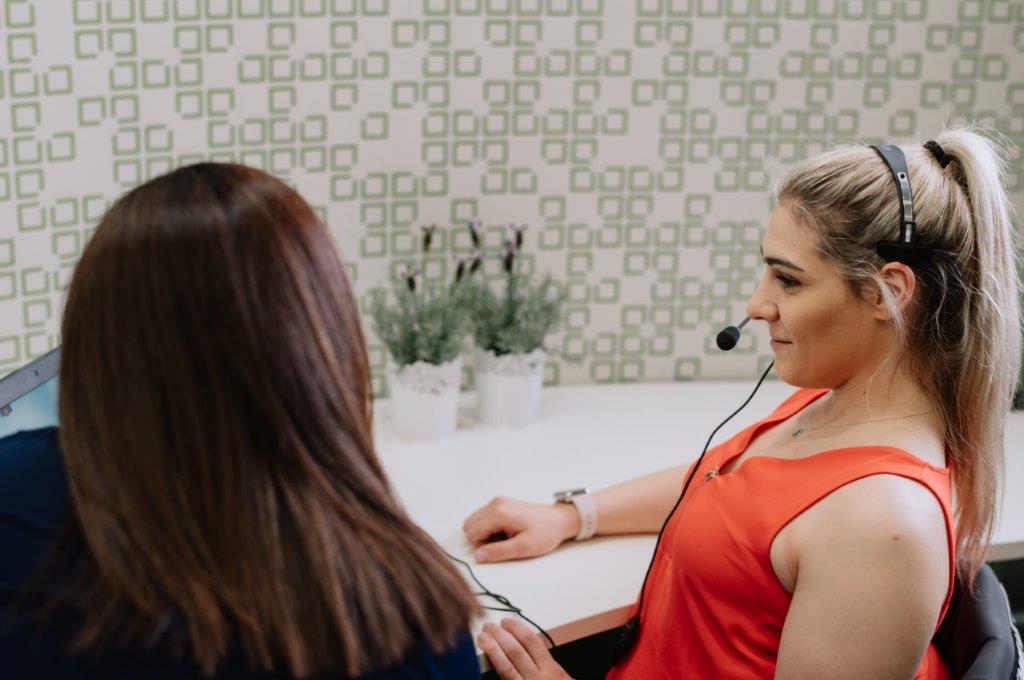
<path id="1" fill-rule="evenodd" d="M 654 537 L 569 542 L 544 557 L 477 565 L 462 534 L 463 520 L 496 496 L 550 503 L 559 488 L 601 488 L 693 461 L 755 382 L 547 388 L 541 422 L 521 430 L 477 424 L 476 395 L 470 393 L 463 397 L 460 431 L 429 443 L 397 439 L 388 427 L 389 405 L 381 401 L 376 405 L 378 451 L 413 519 L 451 554 L 473 564 L 492 591 L 508 597 L 563 644 L 626 622 Z M 712 447 L 764 418 L 794 391 L 785 383 L 765 381 Z M 1007 427 L 1007 493 L 990 559 L 1024 557 L 1022 449 L 1024 414 L 1015 413 Z M 508 614 L 487 621 L 503 615 Z"/>

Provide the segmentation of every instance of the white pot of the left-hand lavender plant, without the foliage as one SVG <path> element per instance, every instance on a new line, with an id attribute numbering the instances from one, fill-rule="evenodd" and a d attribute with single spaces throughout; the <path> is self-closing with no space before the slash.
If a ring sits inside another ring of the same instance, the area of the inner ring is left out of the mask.
<path id="1" fill-rule="evenodd" d="M 427 441 L 455 432 L 462 357 L 447 364 L 416 362 L 389 372 L 391 418 L 398 436 Z"/>

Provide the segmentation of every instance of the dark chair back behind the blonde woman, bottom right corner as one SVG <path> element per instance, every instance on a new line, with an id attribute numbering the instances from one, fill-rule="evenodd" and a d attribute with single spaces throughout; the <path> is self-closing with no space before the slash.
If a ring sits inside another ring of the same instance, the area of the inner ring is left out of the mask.
<path id="1" fill-rule="evenodd" d="M 1024 650 L 1010 601 L 987 564 L 978 570 L 973 593 L 956 581 L 946 619 L 932 641 L 953 678 L 1024 680 Z"/>

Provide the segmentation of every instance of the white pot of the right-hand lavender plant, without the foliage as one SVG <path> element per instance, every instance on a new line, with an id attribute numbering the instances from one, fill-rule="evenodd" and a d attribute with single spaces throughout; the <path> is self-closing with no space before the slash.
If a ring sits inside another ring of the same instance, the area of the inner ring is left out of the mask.
<path id="1" fill-rule="evenodd" d="M 477 348 L 476 391 L 480 422 L 496 427 L 524 427 L 541 416 L 541 387 L 547 353 L 496 356 Z"/>

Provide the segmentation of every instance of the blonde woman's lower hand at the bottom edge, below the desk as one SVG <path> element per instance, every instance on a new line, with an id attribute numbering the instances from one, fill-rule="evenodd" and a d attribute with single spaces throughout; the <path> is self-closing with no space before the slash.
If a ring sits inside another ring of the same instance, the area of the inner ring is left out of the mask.
<path id="1" fill-rule="evenodd" d="M 541 636 L 516 619 L 484 624 L 476 643 L 502 680 L 571 680 Z"/>

